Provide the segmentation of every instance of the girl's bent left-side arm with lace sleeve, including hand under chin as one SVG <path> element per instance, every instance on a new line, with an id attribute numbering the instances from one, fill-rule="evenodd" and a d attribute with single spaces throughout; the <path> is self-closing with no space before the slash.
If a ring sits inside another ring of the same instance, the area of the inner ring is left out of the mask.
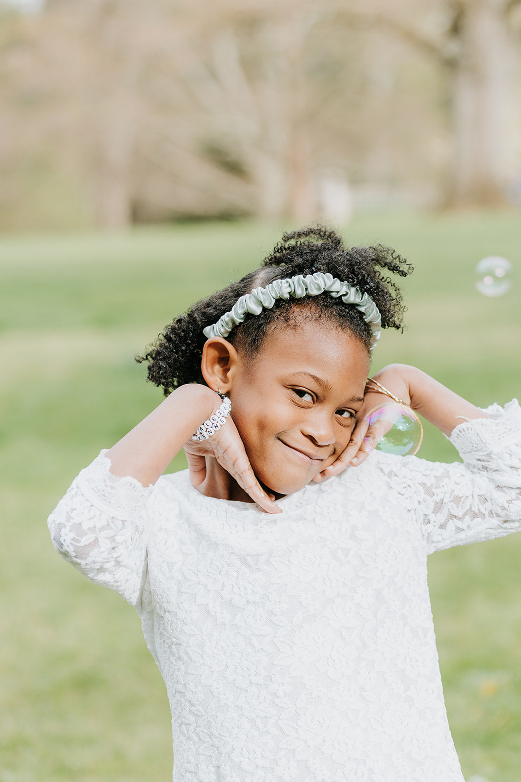
<path id="1" fill-rule="evenodd" d="M 255 479 L 231 418 L 208 440 L 191 441 L 220 404 L 207 386 L 181 386 L 109 451 L 103 450 L 73 480 L 48 518 L 56 551 L 88 579 L 136 605 L 147 564 L 145 505 L 153 484 L 187 441 L 198 482 L 205 476 L 206 457 L 215 457 L 253 500 L 280 512 Z"/>

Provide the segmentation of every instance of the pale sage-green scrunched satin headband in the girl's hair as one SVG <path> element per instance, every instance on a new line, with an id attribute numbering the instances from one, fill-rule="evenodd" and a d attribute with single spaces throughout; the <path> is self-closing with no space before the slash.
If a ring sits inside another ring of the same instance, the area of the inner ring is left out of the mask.
<path id="1" fill-rule="evenodd" d="M 225 313 L 211 326 L 203 328 L 205 337 L 227 337 L 234 326 L 244 321 L 248 313 L 259 315 L 263 309 L 270 310 L 277 299 L 302 299 L 303 296 L 319 296 L 327 292 L 335 299 L 341 298 L 344 304 L 353 304 L 363 315 L 364 321 L 370 326 L 371 350 L 374 350 L 380 339 L 380 327 L 382 319 L 380 310 L 376 307 L 367 293 L 362 293 L 349 282 L 333 277 L 332 274 L 323 274 L 316 271 L 315 274 L 297 274 L 295 277 L 287 277 L 282 280 L 274 280 L 266 285 L 266 288 L 254 288 L 234 304 L 230 312 Z"/>

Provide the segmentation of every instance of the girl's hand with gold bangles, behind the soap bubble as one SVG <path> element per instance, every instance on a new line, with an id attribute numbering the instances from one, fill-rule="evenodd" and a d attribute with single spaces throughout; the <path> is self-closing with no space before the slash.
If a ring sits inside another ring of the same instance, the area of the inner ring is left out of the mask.
<path id="1" fill-rule="evenodd" d="M 394 396 L 397 396 L 398 399 L 403 400 L 406 404 L 411 403 L 409 382 L 405 378 L 404 365 L 390 364 L 380 370 L 380 372 L 377 372 L 376 375 L 373 375 L 373 377 L 388 391 L 391 391 Z M 366 461 L 369 454 L 376 448 L 379 440 L 391 429 L 391 424 L 385 421 L 376 421 L 369 426 L 366 415 L 373 410 L 373 407 L 379 407 L 381 404 L 392 401 L 390 396 L 366 388 L 363 404 L 356 416 L 355 427 L 347 447 L 344 448 L 330 467 L 327 467 L 323 472 L 319 472 L 319 475 L 315 476 L 314 481 L 319 483 L 332 475 L 338 475 L 339 472 L 342 472 L 348 466 L 359 467 Z"/>

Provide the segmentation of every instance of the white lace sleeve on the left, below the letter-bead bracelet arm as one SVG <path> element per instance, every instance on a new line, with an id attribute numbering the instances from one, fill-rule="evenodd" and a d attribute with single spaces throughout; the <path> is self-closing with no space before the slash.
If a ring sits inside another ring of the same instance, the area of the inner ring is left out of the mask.
<path id="1" fill-rule="evenodd" d="M 91 581 L 136 605 L 146 570 L 144 506 L 153 486 L 118 478 L 102 450 L 48 517 L 56 551 Z"/>

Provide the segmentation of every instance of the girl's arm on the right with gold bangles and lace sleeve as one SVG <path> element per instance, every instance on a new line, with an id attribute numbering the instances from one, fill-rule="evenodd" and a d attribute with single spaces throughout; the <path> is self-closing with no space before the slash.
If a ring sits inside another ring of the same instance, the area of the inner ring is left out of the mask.
<path id="1" fill-rule="evenodd" d="M 401 503 L 416 515 L 427 553 L 521 530 L 521 410 L 517 401 L 505 405 L 505 410 L 493 405 L 484 411 L 405 364 L 391 364 L 374 377 L 441 429 L 463 459 L 462 464 L 448 465 L 416 456 L 391 457 L 390 490 L 398 491 Z M 331 465 L 331 475 L 349 464 L 359 466 L 369 456 L 377 439 L 366 432 L 363 418 L 385 399 L 381 393 L 366 393 L 353 432 L 355 442 Z M 324 473 L 317 478 L 329 477 L 328 470 Z"/>

